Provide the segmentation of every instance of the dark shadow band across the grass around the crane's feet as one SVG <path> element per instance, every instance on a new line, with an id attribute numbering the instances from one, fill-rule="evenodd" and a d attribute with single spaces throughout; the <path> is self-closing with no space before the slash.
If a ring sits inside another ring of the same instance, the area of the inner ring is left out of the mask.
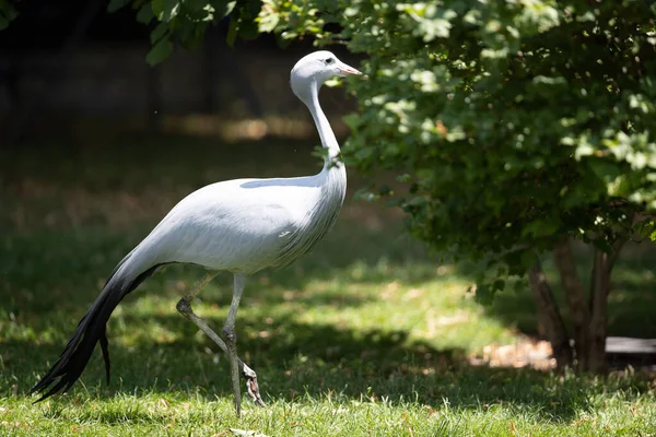
<path id="1" fill-rule="evenodd" d="M 139 320 L 130 321 L 139 323 Z M 168 318 L 159 322 L 177 326 L 177 321 Z M 242 355 L 249 357 L 247 361 L 258 373 L 267 402 L 290 402 L 308 395 L 319 400 L 330 397 L 336 404 L 353 400 L 419 402 L 435 409 L 448 404 L 456 410 L 485 410 L 503 404 L 517 411 L 534 411 L 542 420 L 560 422 L 590 410 L 594 393 L 608 390 L 582 378 L 559 378 L 527 369 L 473 367 L 466 363 L 462 351 L 407 344 L 407 334 L 402 331 L 358 336 L 332 327 L 283 324 L 285 330 L 302 334 L 296 334 L 293 341 L 241 342 Z M 335 345 L 339 349 L 330 350 Z M 52 345 L 34 347 L 32 343 L 22 342 L 11 342 L 3 347 L 10 355 L 23 356 L 22 370 L 16 373 L 20 381 L 31 379 L 26 369 L 44 366 L 42 356 L 54 357 L 60 352 Z M 95 356 L 82 378 L 86 386 L 80 382 L 77 386 L 75 402 L 174 390 L 196 392 L 208 400 L 230 397 L 227 362 L 220 358 L 216 363 L 216 354 L 209 353 L 208 347 L 216 350 L 206 341 L 202 344 L 140 342 L 129 349 L 112 346 L 114 382 L 105 385 L 101 359 Z M 283 356 L 290 361 L 281 362 Z M 633 379 L 630 385 L 636 397 L 648 390 L 647 381 Z M 24 389 L 21 392 L 24 393 Z M 55 411 L 71 401 L 69 397 L 54 398 Z M 115 423 L 136 421 L 141 414 L 139 410 L 129 409 L 105 413 L 93 418 Z"/>

